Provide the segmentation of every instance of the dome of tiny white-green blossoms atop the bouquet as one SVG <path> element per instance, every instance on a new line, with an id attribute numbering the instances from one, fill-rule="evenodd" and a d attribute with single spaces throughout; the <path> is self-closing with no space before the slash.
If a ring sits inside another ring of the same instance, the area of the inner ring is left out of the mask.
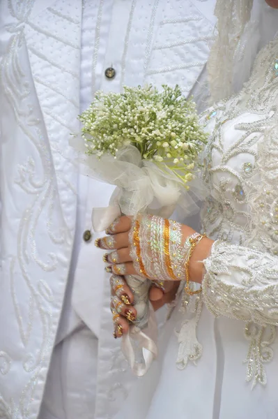
<path id="1" fill-rule="evenodd" d="M 208 138 L 199 125 L 196 105 L 178 86 L 163 85 L 161 91 L 151 85 L 124 87 L 123 93 L 98 91 L 79 119 L 88 154 L 116 158 L 118 150 L 132 145 L 142 159 L 169 165 L 186 189 Z"/>

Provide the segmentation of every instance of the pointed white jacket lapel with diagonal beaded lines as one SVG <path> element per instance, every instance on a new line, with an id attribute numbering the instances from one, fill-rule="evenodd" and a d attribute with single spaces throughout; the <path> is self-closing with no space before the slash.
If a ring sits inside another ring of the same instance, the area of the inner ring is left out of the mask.
<path id="1" fill-rule="evenodd" d="M 82 1 L 37 1 L 25 27 L 33 82 L 51 147 L 65 222 L 75 230 L 77 165 L 68 141 L 79 124 Z M 45 5 L 45 7 L 42 7 Z M 39 11 L 39 13 L 37 13 Z"/>

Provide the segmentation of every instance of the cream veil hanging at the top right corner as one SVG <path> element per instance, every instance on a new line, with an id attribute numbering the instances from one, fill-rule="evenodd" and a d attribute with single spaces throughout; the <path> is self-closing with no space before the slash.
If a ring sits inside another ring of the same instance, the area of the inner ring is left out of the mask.
<path id="1" fill-rule="evenodd" d="M 217 0 L 215 15 L 218 34 L 207 65 L 213 102 L 242 88 L 256 54 L 278 31 L 278 10 L 264 0 Z"/>

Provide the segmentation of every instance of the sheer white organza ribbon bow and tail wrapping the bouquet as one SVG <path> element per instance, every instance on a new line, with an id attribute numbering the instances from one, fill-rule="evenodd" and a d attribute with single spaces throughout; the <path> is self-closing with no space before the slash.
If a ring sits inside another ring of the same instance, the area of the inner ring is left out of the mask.
<path id="1" fill-rule="evenodd" d="M 139 151 L 128 146 L 113 156 L 103 155 L 101 159 L 85 154 L 83 140 L 73 138 L 71 145 L 79 151 L 82 173 L 102 182 L 118 186 L 111 196 L 109 207 L 93 208 L 92 224 L 96 232 L 109 227 L 117 216 L 135 216 L 139 212 L 157 214 L 168 218 L 178 207 L 183 216 L 199 210 L 195 202 L 203 197 L 203 190 L 190 182 L 190 193 L 183 182 L 171 170 L 163 170 L 155 163 L 141 159 Z M 192 198 L 194 197 L 194 199 Z M 148 302 L 150 281 L 139 276 L 125 278 L 136 295 L 134 307 L 137 309 L 136 324 L 124 335 L 122 350 L 132 371 L 137 376 L 146 374 L 152 360 L 157 356 L 157 325 L 152 307 Z"/>

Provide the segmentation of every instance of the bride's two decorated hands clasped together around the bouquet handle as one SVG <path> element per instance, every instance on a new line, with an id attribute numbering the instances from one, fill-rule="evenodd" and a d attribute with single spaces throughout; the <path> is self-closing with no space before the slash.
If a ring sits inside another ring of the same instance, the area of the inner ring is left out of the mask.
<path id="1" fill-rule="evenodd" d="M 97 239 L 95 245 L 111 250 L 105 253 L 103 260 L 108 264 L 105 270 L 112 273 L 110 307 L 115 325 L 114 337 L 121 337 L 137 317 L 132 306 L 134 297 L 125 282 L 125 275 L 141 275 L 154 281 L 149 293 L 154 309 L 171 302 L 180 281 L 185 281 L 185 260 L 190 249 L 188 237 L 197 233 L 183 224 L 149 215 L 137 219 L 121 216 L 106 233 L 107 236 Z M 202 242 L 205 246 L 198 245 L 199 251 L 194 252 L 195 257 L 190 263 L 190 275 L 196 282 L 201 282 L 203 270 L 201 266 L 201 274 L 198 272 L 195 265 L 200 264 L 196 262 L 207 256 L 212 241 L 206 238 Z"/>

